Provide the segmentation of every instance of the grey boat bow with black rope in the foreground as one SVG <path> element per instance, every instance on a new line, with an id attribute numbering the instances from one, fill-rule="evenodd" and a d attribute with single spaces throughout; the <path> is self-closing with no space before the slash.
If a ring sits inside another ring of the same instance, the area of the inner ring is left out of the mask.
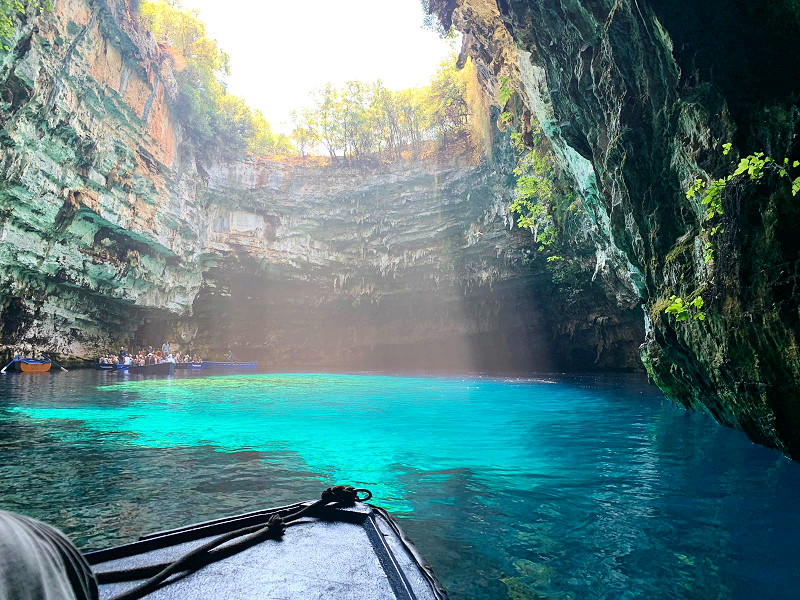
<path id="1" fill-rule="evenodd" d="M 335 493 L 341 488 L 358 501 Z M 367 494 L 335 486 L 316 502 L 153 533 L 85 556 L 101 599 L 445 600 L 430 565 L 385 510 L 364 503 Z"/>

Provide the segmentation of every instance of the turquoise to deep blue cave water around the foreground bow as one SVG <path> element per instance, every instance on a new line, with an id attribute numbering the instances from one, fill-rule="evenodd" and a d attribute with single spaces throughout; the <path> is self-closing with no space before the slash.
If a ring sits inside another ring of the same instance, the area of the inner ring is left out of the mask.
<path id="1" fill-rule="evenodd" d="M 642 378 L 0 379 L 0 506 L 98 548 L 370 488 L 452 597 L 788 598 L 800 464 Z"/>

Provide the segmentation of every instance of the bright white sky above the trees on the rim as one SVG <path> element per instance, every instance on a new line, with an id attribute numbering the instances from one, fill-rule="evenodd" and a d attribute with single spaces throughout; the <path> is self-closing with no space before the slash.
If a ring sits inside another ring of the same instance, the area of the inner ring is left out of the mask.
<path id="1" fill-rule="evenodd" d="M 327 81 L 427 83 L 451 52 L 422 28 L 419 0 L 183 0 L 231 58 L 228 90 L 289 131 L 289 113 Z M 458 42 L 460 45 L 460 42 Z M 285 125 L 284 125 L 285 124 Z"/>

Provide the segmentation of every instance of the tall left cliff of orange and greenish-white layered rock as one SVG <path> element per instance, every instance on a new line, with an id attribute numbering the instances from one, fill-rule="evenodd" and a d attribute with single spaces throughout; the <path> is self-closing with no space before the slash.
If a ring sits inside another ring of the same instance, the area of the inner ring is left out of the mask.
<path id="1" fill-rule="evenodd" d="M 185 311 L 207 225 L 169 63 L 125 6 L 62 0 L 0 63 L 2 343 L 88 356 Z"/>

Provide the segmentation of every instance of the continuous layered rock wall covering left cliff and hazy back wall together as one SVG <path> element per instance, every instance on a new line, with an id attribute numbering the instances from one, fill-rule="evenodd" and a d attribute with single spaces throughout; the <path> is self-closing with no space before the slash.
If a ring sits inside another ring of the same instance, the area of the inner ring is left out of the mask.
<path id="1" fill-rule="evenodd" d="M 55 3 L 3 55 L 6 352 L 168 337 L 281 368 L 635 368 L 635 297 L 528 264 L 502 159 L 209 156 L 172 112 L 170 65 L 110 0 Z"/>

